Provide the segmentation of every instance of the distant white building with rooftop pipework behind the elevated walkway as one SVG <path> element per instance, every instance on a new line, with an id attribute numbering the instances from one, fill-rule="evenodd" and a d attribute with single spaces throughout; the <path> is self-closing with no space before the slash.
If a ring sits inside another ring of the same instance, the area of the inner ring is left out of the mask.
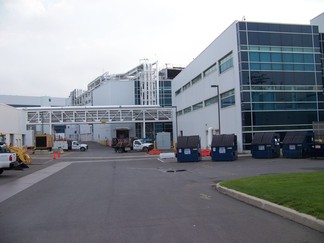
<path id="1" fill-rule="evenodd" d="M 73 90 L 68 104 L 72 106 L 156 106 L 171 107 L 171 81 L 182 68 L 158 70 L 158 63 L 143 60 L 135 68 L 122 74 L 97 77 L 88 84 L 86 91 Z M 145 137 L 154 139 L 158 132 L 173 134 L 172 122 L 147 122 L 94 125 L 67 125 L 67 138 L 110 141 L 114 137 Z"/>

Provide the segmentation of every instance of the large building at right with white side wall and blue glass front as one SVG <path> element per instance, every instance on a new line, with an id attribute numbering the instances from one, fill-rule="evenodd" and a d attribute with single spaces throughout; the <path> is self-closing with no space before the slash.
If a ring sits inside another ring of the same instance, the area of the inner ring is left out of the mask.
<path id="1" fill-rule="evenodd" d="M 311 130 L 324 118 L 324 14 L 311 25 L 235 21 L 172 82 L 180 135 Z"/>

